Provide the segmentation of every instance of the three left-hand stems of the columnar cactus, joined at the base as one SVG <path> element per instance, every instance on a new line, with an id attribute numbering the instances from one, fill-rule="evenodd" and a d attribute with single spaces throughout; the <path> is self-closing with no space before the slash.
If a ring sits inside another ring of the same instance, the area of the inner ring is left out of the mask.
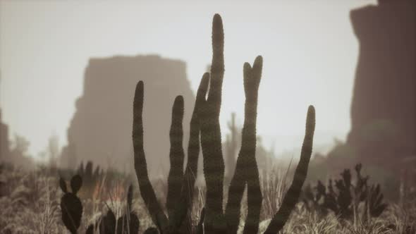
<path id="1" fill-rule="evenodd" d="M 161 205 L 157 201 L 152 184 L 147 174 L 147 164 L 145 152 L 143 149 L 143 98 L 144 87 L 143 82 L 137 83 L 133 104 L 133 147 L 134 147 L 134 164 L 137 180 L 139 182 L 140 193 L 145 205 L 152 216 L 153 222 L 159 228 L 161 233 L 178 233 L 183 226 L 183 221 L 188 215 L 188 209 L 192 207 L 192 197 L 195 185 L 195 177 L 197 175 L 197 161 L 200 153 L 200 125 L 197 118 L 197 108 L 200 101 L 204 99 L 207 93 L 209 78 L 207 75 L 202 77 L 200 87 L 197 91 L 197 100 L 190 121 L 190 140 L 188 144 L 188 163 L 183 173 L 183 97 L 178 96 L 175 99 L 172 110 L 171 123 L 171 171 L 168 178 L 168 196 L 166 199 L 166 208 L 168 215 L 164 214 Z M 189 226 L 185 229 L 188 233 Z M 181 230 L 183 230 L 181 229 Z M 149 230 L 151 232 L 152 230 Z"/>

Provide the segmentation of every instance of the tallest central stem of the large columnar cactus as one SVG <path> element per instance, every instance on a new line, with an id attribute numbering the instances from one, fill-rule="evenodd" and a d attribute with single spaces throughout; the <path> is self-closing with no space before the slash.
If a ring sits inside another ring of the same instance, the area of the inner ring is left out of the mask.
<path id="1" fill-rule="evenodd" d="M 204 226 L 206 233 L 209 233 L 208 230 L 213 230 L 214 220 L 220 221 L 223 215 L 224 159 L 221 149 L 219 110 L 224 78 L 224 31 L 221 16 L 218 14 L 214 16 L 212 23 L 212 52 L 209 94 L 207 101 L 201 101 L 201 108 L 198 111 L 204 176 L 207 184 Z"/>

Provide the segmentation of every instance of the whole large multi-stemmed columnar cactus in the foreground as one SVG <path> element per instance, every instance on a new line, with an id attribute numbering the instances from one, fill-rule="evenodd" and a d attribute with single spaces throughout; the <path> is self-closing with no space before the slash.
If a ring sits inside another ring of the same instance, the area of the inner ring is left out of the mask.
<path id="1" fill-rule="evenodd" d="M 228 200 L 223 209 L 224 196 L 224 159 L 221 145 L 219 113 L 221 109 L 221 89 L 224 78 L 224 30 L 221 16 L 216 14 L 212 23 L 212 66 L 210 73 L 204 73 L 197 90 L 192 118 L 190 121 L 190 140 L 188 144 L 188 163 L 183 173 L 183 97 L 176 97 L 173 103 L 171 122 L 171 168 L 168 178 L 168 196 L 166 199 L 167 216 L 157 201 L 154 189 L 149 181 L 145 151 L 143 147 L 143 82 L 137 83 L 133 102 L 133 147 L 134 164 L 140 193 L 157 230 L 163 234 L 178 233 L 237 233 L 240 222 L 240 206 L 247 187 L 247 218 L 243 233 L 257 233 L 262 208 L 262 191 L 259 185 L 259 170 L 255 159 L 257 96 L 262 76 L 262 56 L 257 56 L 251 66 L 243 66 L 245 90 L 245 120 L 242 131 L 240 153 L 235 173 L 228 187 Z M 209 86 L 209 87 L 208 87 Z M 209 91 L 208 91 L 209 90 Z M 315 114 L 314 107 L 307 111 L 305 139 L 302 145 L 300 161 L 295 169 L 293 183 L 283 198 L 279 211 L 271 218 L 264 233 L 278 233 L 298 202 L 301 188 L 307 176 L 307 167 L 312 154 Z M 190 226 L 189 216 L 192 207 L 197 159 L 203 156 L 203 169 L 206 182 L 206 202 L 200 221 L 196 227 Z M 147 230 L 149 231 L 149 230 Z"/>

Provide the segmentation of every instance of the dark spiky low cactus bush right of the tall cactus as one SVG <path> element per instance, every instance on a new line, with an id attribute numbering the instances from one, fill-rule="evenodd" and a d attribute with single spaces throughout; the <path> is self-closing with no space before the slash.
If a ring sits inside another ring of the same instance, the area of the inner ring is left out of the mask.
<path id="1" fill-rule="evenodd" d="M 387 207 L 380 185 L 368 185 L 369 176 L 362 176 L 361 169 L 361 164 L 355 166 L 355 183 L 350 170 L 345 169 L 341 179 L 330 179 L 327 187 L 320 180 L 314 188 L 310 185 L 305 187 L 302 200 L 307 209 L 323 215 L 331 210 L 341 219 L 352 219 L 358 214 L 359 204 L 363 203 L 365 208 L 362 217 L 365 220 L 380 216 Z"/>

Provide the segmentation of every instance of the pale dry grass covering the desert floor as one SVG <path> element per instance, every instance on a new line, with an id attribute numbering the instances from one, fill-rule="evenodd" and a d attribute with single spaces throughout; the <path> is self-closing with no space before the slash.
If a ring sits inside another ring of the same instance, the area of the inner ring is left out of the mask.
<path id="1" fill-rule="evenodd" d="M 265 176 L 267 175 L 267 176 Z M 23 171 L 11 166 L 3 166 L 0 171 L 0 233 L 68 233 L 61 222 L 59 202 L 62 196 L 58 188 L 58 176 L 45 168 L 37 171 Z M 286 193 L 288 181 L 291 179 L 287 168 L 271 166 L 261 178 L 264 197 L 262 222 L 259 231 L 267 227 L 272 214 L 276 213 L 281 199 Z M 123 214 L 126 207 L 126 189 L 130 180 L 125 177 L 102 177 L 94 187 L 90 196 L 82 195 L 84 215 L 82 228 L 87 224 L 98 221 L 101 214 L 111 208 L 117 216 Z M 159 184 L 157 196 L 163 201 L 166 187 Z M 154 226 L 145 209 L 140 194 L 135 190 L 133 209 L 140 218 L 140 233 Z M 226 196 L 224 197 L 226 199 Z M 162 202 L 164 203 L 164 202 Z M 204 188 L 195 191 L 194 207 L 192 207 L 192 222 L 196 223 L 204 204 Z M 241 227 L 247 214 L 246 200 L 243 199 Z M 300 202 L 281 233 L 296 234 L 414 234 L 416 233 L 416 202 L 408 202 L 405 209 L 397 204 L 389 207 L 379 218 L 365 222 L 342 221 L 334 214 L 320 216 L 316 212 L 307 211 Z"/>

